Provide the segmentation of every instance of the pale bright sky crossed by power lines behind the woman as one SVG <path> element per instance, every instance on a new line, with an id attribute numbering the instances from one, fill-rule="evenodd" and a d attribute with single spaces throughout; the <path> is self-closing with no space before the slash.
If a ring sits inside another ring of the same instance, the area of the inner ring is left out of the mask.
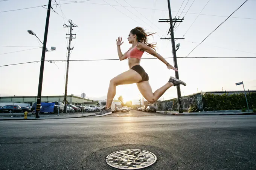
<path id="1" fill-rule="evenodd" d="M 70 60 L 119 59 L 117 37 L 123 37 L 121 50 L 125 53 L 131 47 L 127 40 L 128 34 L 136 26 L 143 27 L 148 32 L 157 32 L 154 38 L 149 38 L 149 42 L 157 42 L 157 53 L 163 57 L 172 57 L 171 42 L 160 39 L 169 37 L 167 35 L 169 24 L 158 23 L 160 18 L 169 18 L 167 0 L 89 0 L 84 3 L 64 4 L 70 1 L 56 0 L 62 5 L 58 5 L 57 8 L 52 6 L 58 14 L 54 11 L 50 12 L 47 47 L 56 47 L 56 51 L 46 52 L 46 60 L 66 60 L 68 45 L 66 33 L 69 33 L 69 30 L 63 28 L 63 24 L 68 24 L 67 20 L 72 20 L 78 26 L 73 30 L 76 39 L 71 43 L 71 47 L 74 48 Z M 209 2 L 208 0 L 189 0 L 189 2 L 171 0 L 170 2 L 172 17 L 185 15 L 183 22 L 174 31 L 175 38 L 182 38 L 186 33 L 184 40 L 175 41 L 176 44 L 180 43 L 177 57 L 185 57 L 245 0 L 232 0 L 232 3 L 231 0 Z M 47 6 L 2 11 L 47 4 L 48 0 L 0 1 L 2 24 L 0 65 L 41 60 L 42 48 L 37 48 L 41 47 L 41 44 L 35 36 L 27 33 L 27 30 L 35 32 L 43 42 Z M 54 0 L 52 5 L 56 5 Z M 192 51 L 189 57 L 256 57 L 255 6 L 256 0 L 248 0 L 232 15 L 232 18 L 230 17 Z M 198 15 L 200 12 L 201 15 Z M 29 50 L 31 48 L 37 49 Z M 14 51 L 20 52 L 10 53 Z M 149 75 L 153 92 L 167 83 L 170 76 L 175 76 L 173 70 L 168 70 L 166 65 L 155 57 L 144 53 L 142 58 L 152 58 L 142 59 L 140 65 Z M 173 65 L 173 59 L 166 60 Z M 182 96 L 197 91 L 221 91 L 222 88 L 243 90 L 242 86 L 235 85 L 241 81 L 244 82 L 245 89 L 256 90 L 255 58 L 178 58 L 177 62 L 179 77 L 187 83 L 187 86 L 181 86 Z M 70 62 L 67 94 L 80 96 L 84 92 L 85 98 L 106 99 L 111 78 L 128 69 L 127 60 Z M 0 96 L 36 96 L 39 71 L 40 62 L 0 67 Z M 63 95 L 65 75 L 66 62 L 46 62 L 42 95 Z M 132 100 L 133 104 L 138 104 L 140 92 L 136 84 L 128 84 L 117 86 L 115 98 L 119 95 L 123 96 L 124 101 Z M 176 97 L 176 88 L 171 87 L 160 100 Z"/>

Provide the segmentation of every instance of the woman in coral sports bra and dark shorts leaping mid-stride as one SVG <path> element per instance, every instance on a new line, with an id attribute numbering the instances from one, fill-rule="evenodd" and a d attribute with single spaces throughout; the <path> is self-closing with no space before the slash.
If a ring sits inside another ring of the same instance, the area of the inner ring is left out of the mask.
<path id="1" fill-rule="evenodd" d="M 129 44 L 132 44 L 132 47 L 124 54 L 121 52 L 120 48 L 120 46 L 123 44 L 122 38 L 117 38 L 116 45 L 119 59 L 120 61 L 128 59 L 128 66 L 130 69 L 110 80 L 106 107 L 103 108 L 99 113 L 95 113 L 95 116 L 105 116 L 108 114 L 112 114 L 111 103 L 114 96 L 116 95 L 116 86 L 122 84 L 136 83 L 140 93 L 150 103 L 154 103 L 155 101 L 157 101 L 157 99 L 160 98 L 163 93 L 165 93 L 165 91 L 172 86 L 177 86 L 180 84 L 186 86 L 186 83 L 184 83 L 183 81 L 174 77 L 170 77 L 169 81 L 164 86 L 157 89 L 154 93 L 152 92 L 151 86 L 148 81 L 148 74 L 145 72 L 142 66 L 140 66 L 140 60 L 144 52 L 149 53 L 154 57 L 157 57 L 167 66 L 168 69 L 178 71 L 177 68 L 169 64 L 160 54 L 156 53 L 156 44 L 148 44 L 148 36 L 153 34 L 154 33 L 146 33 L 145 30 L 141 27 L 136 27 L 132 29 L 127 38 Z"/>

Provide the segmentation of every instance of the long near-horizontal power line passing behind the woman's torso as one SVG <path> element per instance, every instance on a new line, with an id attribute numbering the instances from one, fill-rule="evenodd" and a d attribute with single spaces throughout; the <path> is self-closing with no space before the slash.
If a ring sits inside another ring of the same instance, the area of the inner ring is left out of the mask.
<path id="1" fill-rule="evenodd" d="M 255 59 L 256 57 L 177 57 L 180 59 Z M 143 59 L 143 58 L 142 58 Z M 144 58 L 144 59 L 157 59 L 157 58 Z M 173 59 L 173 57 L 165 57 L 165 59 Z M 88 60 L 69 60 L 70 62 L 75 62 L 75 61 L 110 61 L 110 60 L 119 60 L 119 59 L 88 59 Z M 45 60 L 46 62 L 67 62 L 67 60 Z M 13 66 L 13 65 L 21 65 L 21 64 L 27 64 L 27 63 L 38 63 L 41 62 L 39 61 L 34 61 L 34 62 L 25 62 L 25 63 L 16 63 L 16 64 L 9 64 L 9 65 L 2 65 L 0 67 L 4 66 Z"/>

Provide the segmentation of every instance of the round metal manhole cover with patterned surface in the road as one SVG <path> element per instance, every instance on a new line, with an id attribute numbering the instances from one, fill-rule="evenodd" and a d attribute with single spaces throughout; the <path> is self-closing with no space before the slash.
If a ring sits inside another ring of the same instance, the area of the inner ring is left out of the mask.
<path id="1" fill-rule="evenodd" d="M 113 152 L 107 156 L 108 165 L 118 169 L 141 169 L 157 161 L 154 153 L 139 149 L 126 149 Z"/>

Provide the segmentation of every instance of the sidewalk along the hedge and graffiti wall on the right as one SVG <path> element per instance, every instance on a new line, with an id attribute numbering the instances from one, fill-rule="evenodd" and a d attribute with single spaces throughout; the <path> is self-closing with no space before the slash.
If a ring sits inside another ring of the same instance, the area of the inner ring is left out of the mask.
<path id="1" fill-rule="evenodd" d="M 163 114 L 171 114 L 171 115 L 177 115 L 177 116 L 198 116 L 198 115 L 248 115 L 248 114 L 256 114 L 253 112 L 242 112 L 240 110 L 234 110 L 234 111 L 213 111 L 213 112 L 195 112 L 195 113 L 189 113 L 189 112 L 183 112 L 178 113 L 178 111 L 157 111 L 158 113 Z"/>

